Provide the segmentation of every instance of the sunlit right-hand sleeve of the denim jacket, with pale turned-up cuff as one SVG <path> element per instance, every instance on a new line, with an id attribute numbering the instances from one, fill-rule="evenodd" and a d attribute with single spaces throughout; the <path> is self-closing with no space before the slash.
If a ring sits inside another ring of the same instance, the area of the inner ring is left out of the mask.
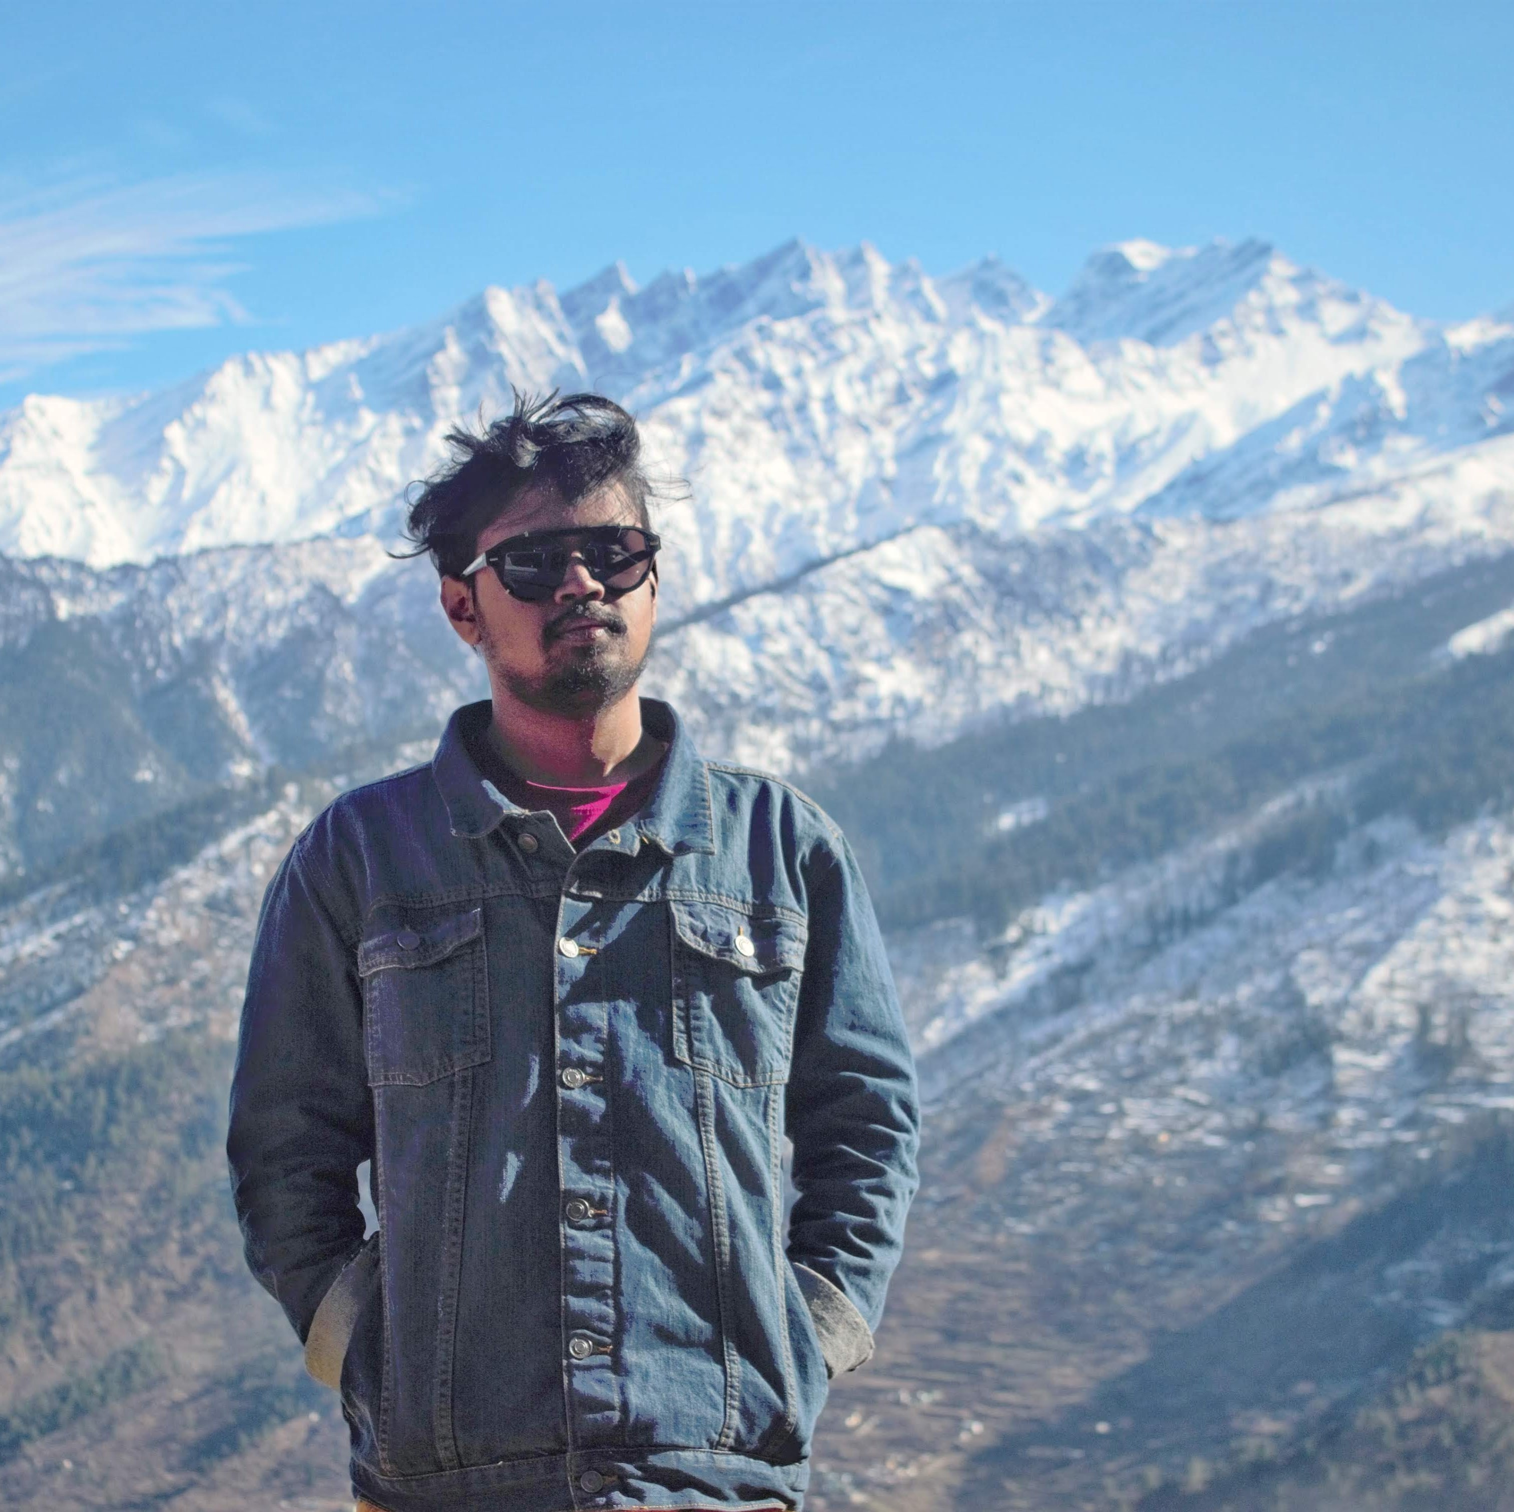
<path id="1" fill-rule="evenodd" d="M 919 1096 L 883 937 L 845 840 L 812 852 L 807 887 L 787 1096 L 798 1191 L 789 1259 L 836 1374 L 872 1353 L 919 1184 Z"/>

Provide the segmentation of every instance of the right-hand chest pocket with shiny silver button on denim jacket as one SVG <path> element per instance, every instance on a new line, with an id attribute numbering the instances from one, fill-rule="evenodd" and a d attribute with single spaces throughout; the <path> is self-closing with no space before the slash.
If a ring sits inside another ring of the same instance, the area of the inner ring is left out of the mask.
<path id="1" fill-rule="evenodd" d="M 734 1087 L 789 1079 L 802 923 L 672 902 L 674 1055 Z"/>

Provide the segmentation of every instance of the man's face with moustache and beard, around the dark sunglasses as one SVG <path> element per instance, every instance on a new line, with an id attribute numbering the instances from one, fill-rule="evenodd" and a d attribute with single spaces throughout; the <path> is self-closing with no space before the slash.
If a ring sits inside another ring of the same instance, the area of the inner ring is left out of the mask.
<path id="1" fill-rule="evenodd" d="M 550 487 L 527 489 L 478 534 L 478 551 L 536 530 L 575 525 L 639 525 L 619 484 L 577 504 Z M 640 677 L 657 622 L 656 574 L 640 587 L 609 598 L 580 560 L 551 598 L 527 604 L 512 596 L 492 568 L 469 584 L 442 578 L 442 607 L 453 628 L 483 652 L 489 681 L 544 713 L 587 719 L 624 698 Z"/>

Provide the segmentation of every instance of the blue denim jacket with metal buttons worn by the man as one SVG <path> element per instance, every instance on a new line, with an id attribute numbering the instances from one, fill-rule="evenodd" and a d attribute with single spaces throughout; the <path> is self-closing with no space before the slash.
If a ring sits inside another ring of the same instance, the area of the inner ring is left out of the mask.
<path id="1" fill-rule="evenodd" d="M 654 701 L 654 796 L 575 854 L 474 764 L 489 713 L 268 888 L 227 1144 L 248 1262 L 392 1512 L 798 1506 L 916 1185 L 857 866 Z"/>

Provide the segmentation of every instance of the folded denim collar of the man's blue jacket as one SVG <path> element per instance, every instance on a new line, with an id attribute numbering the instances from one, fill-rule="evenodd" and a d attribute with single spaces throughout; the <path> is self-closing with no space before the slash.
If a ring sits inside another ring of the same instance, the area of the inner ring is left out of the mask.
<path id="1" fill-rule="evenodd" d="M 471 746 L 483 739 L 492 716 L 489 699 L 454 710 L 431 758 L 431 776 L 447 805 L 451 831 L 463 840 L 481 840 L 507 816 L 525 813 L 483 775 L 474 760 Z M 713 855 L 710 776 L 683 720 L 671 704 L 643 698 L 642 723 L 668 745 L 668 754 L 663 757 L 662 779 L 636 817 L 636 834 L 668 855 L 689 851 Z M 634 845 L 622 845 L 622 849 L 634 849 Z"/>

